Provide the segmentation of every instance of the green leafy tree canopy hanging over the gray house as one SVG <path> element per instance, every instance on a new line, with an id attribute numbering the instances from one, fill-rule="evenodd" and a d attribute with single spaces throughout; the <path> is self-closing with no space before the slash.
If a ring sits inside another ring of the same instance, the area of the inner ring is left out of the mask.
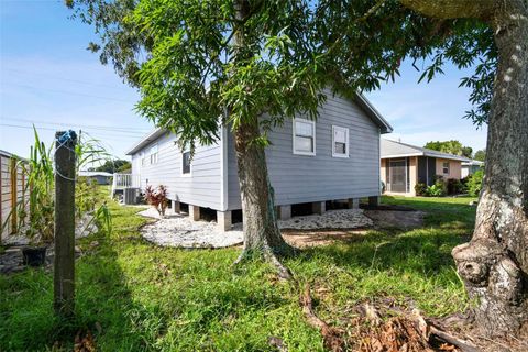
<path id="1" fill-rule="evenodd" d="M 331 85 L 372 90 L 395 79 L 403 61 L 430 80 L 447 62 L 474 67 L 466 117 L 482 123 L 490 110 L 496 48 L 491 30 L 471 19 L 436 20 L 398 1 L 249 1 L 235 19 L 232 1 L 68 0 L 100 36 L 89 48 L 139 87 L 139 111 L 180 135 L 212 143 L 219 116 L 229 123 L 267 113 L 264 130 L 297 112 L 316 117 Z M 251 45 L 233 40 L 237 31 Z M 266 144 L 265 138 L 261 141 Z"/>

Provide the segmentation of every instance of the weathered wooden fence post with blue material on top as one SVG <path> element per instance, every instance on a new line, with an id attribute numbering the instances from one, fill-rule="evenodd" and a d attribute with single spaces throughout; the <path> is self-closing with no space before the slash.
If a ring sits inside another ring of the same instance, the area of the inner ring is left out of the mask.
<path id="1" fill-rule="evenodd" d="M 74 131 L 55 133 L 54 308 L 65 318 L 75 308 L 75 145 Z"/>

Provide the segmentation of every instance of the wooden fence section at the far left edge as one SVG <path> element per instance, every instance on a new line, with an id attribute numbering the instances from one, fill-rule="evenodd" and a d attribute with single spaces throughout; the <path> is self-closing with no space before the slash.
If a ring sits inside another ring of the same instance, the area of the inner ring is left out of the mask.
<path id="1" fill-rule="evenodd" d="M 3 228 L 0 231 L 0 243 L 7 235 L 16 233 L 19 219 L 12 209 L 16 208 L 16 202 L 25 202 L 29 196 L 24 191 L 25 174 L 22 166 L 18 165 L 19 161 L 11 153 L 0 151 L 0 230 Z"/>

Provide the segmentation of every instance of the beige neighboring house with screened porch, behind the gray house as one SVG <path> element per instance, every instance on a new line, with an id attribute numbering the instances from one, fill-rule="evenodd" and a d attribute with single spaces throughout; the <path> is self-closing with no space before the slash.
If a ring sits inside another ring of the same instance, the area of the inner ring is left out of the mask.
<path id="1" fill-rule="evenodd" d="M 418 183 L 431 186 L 437 177 L 462 178 L 463 156 L 382 139 L 382 180 L 386 194 L 415 196 Z"/>

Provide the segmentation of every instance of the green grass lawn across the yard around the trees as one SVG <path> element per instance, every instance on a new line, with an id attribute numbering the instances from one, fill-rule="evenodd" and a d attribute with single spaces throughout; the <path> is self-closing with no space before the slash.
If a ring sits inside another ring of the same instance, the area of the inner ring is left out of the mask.
<path id="1" fill-rule="evenodd" d="M 462 310 L 468 300 L 450 251 L 471 234 L 470 200 L 385 197 L 427 211 L 425 226 L 369 231 L 285 264 L 312 284 L 317 312 L 332 324 L 356 302 L 384 297 L 413 300 L 429 316 Z M 0 276 L 0 351 L 69 351 L 79 330 L 94 332 L 99 351 L 274 351 L 270 337 L 289 351 L 323 350 L 304 320 L 297 288 L 277 282 L 273 268 L 253 262 L 234 270 L 237 249 L 154 246 L 138 232 L 146 220 L 136 209 L 111 208 L 113 233 L 80 244 L 75 321 L 54 318 L 45 270 Z"/>

